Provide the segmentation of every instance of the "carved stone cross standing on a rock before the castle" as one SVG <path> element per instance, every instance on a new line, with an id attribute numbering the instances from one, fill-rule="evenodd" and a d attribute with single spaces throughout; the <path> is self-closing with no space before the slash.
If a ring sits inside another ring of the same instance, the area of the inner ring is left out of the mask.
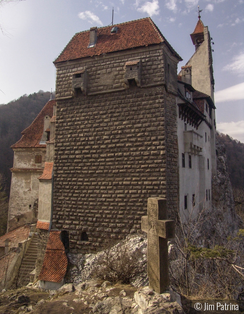
<path id="1" fill-rule="evenodd" d="M 166 198 L 148 198 L 148 216 L 142 230 L 148 233 L 149 286 L 158 293 L 169 290 L 168 238 L 174 238 L 174 220 L 167 219 Z"/>

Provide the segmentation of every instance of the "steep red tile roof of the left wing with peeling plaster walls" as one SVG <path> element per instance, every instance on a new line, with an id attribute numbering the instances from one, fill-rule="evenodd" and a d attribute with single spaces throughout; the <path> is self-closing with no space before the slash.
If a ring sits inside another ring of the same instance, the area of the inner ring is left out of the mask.
<path id="1" fill-rule="evenodd" d="M 11 148 L 46 147 L 46 144 L 39 144 L 43 135 L 44 116 L 49 115 L 51 117 L 53 115 L 54 104 L 55 99 L 49 100 L 46 103 L 31 125 L 21 132 L 21 134 L 23 134 L 22 138 L 17 143 L 13 144 Z"/>

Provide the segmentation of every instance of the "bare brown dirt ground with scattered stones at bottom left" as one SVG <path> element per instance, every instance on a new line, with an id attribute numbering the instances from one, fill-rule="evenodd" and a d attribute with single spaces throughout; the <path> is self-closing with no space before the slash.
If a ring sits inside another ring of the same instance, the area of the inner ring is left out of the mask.
<path id="1" fill-rule="evenodd" d="M 116 284 L 110 291 L 106 291 L 106 288 L 101 290 L 106 293 L 107 296 L 117 296 L 123 289 L 127 296 L 133 299 L 134 292 L 137 289 L 131 285 Z M 29 297 L 28 302 L 17 303 L 17 298 L 21 295 Z M 81 300 L 82 298 L 85 300 Z M 100 299 L 92 294 L 90 296 L 86 295 L 86 290 L 84 291 L 84 295 L 76 295 L 75 292 L 71 292 L 49 297 L 49 293 L 30 288 L 19 288 L 17 290 L 8 290 L 0 294 L 0 313 L 22 314 L 22 312 L 31 312 L 31 314 L 83 314 L 89 313 L 91 311 L 90 305 L 96 304 L 98 300 Z M 87 304 L 85 304 L 86 302 Z"/>

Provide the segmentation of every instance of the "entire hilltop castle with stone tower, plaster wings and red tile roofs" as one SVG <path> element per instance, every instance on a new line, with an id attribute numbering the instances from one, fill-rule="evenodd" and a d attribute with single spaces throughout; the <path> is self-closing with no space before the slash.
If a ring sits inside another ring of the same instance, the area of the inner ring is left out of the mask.
<path id="1" fill-rule="evenodd" d="M 211 207 L 214 78 L 200 17 L 190 36 L 179 74 L 181 57 L 150 18 L 77 33 L 54 61 L 55 100 L 12 146 L 8 217 L 8 232 L 37 221 L 46 289 L 62 284 L 65 252 L 141 232 L 149 197 L 166 198 L 172 219 Z"/>

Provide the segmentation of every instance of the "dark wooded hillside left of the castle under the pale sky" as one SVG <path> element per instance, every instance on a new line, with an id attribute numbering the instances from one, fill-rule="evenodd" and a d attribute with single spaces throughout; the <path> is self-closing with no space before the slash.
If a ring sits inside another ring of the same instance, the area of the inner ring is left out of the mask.
<path id="1" fill-rule="evenodd" d="M 34 121 L 41 109 L 50 99 L 50 92 L 23 95 L 6 105 L 0 105 L 0 173 L 6 179 L 6 192 L 9 195 L 13 149 L 11 145 L 22 136 L 21 132 Z"/>

